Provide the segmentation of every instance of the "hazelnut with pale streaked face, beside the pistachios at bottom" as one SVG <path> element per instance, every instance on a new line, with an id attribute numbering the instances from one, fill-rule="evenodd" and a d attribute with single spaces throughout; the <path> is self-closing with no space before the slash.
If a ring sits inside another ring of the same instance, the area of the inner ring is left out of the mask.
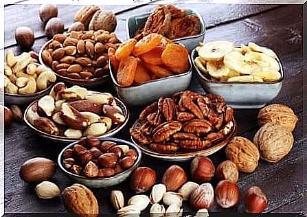
<path id="1" fill-rule="evenodd" d="M 190 194 L 190 204 L 194 209 L 209 209 L 214 203 L 214 189 L 210 183 L 199 185 Z"/>

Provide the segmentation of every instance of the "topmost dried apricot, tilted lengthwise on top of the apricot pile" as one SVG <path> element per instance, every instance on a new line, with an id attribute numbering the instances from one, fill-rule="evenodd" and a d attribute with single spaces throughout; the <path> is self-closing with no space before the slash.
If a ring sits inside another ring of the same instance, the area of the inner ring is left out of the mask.
<path id="1" fill-rule="evenodd" d="M 133 49 L 133 54 L 135 56 L 140 56 L 141 54 L 146 54 L 150 52 L 150 50 L 157 47 L 163 39 L 163 36 L 157 33 L 151 33 L 141 38 L 140 41 L 137 42 L 135 48 Z"/>

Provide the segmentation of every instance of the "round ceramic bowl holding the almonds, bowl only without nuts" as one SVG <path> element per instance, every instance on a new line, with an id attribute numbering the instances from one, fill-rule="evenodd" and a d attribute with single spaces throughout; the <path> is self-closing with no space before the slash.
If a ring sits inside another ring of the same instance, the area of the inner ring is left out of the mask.
<path id="1" fill-rule="evenodd" d="M 47 47 L 49 45 L 49 43 L 52 43 L 52 39 L 47 41 L 47 43 L 45 43 L 43 45 L 43 47 L 41 47 L 41 50 L 38 54 L 38 60 L 39 62 L 41 62 L 42 65 L 44 65 L 45 67 L 47 67 L 48 69 L 54 71 L 52 68 L 50 68 L 49 66 L 45 65 L 45 63 L 43 62 L 43 58 L 42 58 L 42 53 L 43 50 L 45 49 L 45 47 Z M 54 73 L 56 73 L 56 71 L 54 71 Z M 61 76 L 58 73 L 56 73 L 56 77 L 57 80 L 60 82 L 65 82 L 65 84 L 69 84 L 69 85 L 78 85 L 81 87 L 86 87 L 86 88 L 91 88 L 91 87 L 100 87 L 100 85 L 106 83 L 109 81 L 109 74 L 106 73 L 105 76 L 102 76 L 101 78 L 91 78 L 91 79 L 73 79 L 73 78 L 67 78 L 65 76 Z"/>

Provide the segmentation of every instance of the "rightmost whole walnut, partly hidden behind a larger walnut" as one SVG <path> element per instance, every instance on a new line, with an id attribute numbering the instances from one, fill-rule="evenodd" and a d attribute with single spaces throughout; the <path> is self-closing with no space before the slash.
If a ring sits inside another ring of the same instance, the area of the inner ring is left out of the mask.
<path id="1" fill-rule="evenodd" d="M 273 122 L 285 126 L 293 131 L 297 120 L 297 116 L 293 110 L 283 104 L 271 104 L 265 106 L 258 113 L 258 123 L 260 126 Z"/>

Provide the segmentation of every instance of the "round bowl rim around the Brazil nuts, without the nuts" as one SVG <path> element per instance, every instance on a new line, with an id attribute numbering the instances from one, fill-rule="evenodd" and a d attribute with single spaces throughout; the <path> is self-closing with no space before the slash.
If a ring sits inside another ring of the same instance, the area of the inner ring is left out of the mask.
<path id="1" fill-rule="evenodd" d="M 95 91 L 92 91 L 93 93 L 98 93 Z M 98 137 L 98 139 L 101 138 L 105 138 L 105 137 L 111 137 L 113 135 L 115 135 L 116 133 L 118 133 L 120 130 L 122 130 L 122 128 L 124 128 L 124 126 L 126 126 L 126 124 L 128 123 L 128 119 L 129 119 L 129 111 L 126 107 L 126 105 L 124 104 L 124 102 L 122 102 L 121 100 L 119 100 L 118 98 L 114 98 L 117 105 L 120 106 L 120 108 L 122 109 L 123 113 L 124 113 L 124 117 L 125 117 L 125 121 L 124 123 L 122 123 L 121 125 L 116 126 L 115 128 L 111 128 L 111 130 L 109 130 L 106 134 L 101 135 Z M 36 100 L 37 101 L 37 100 Z M 57 135 L 50 135 L 48 133 L 45 133 L 41 130 L 38 130 L 36 127 L 34 127 L 28 120 L 27 120 L 27 112 L 31 109 L 31 107 L 34 105 L 34 103 L 36 103 L 36 101 L 32 102 L 32 104 L 30 104 L 29 106 L 27 106 L 27 109 L 25 109 L 25 113 L 23 114 L 23 122 L 25 122 L 25 124 L 34 131 L 34 133 L 37 133 L 38 135 L 40 135 L 41 137 L 44 137 L 45 139 L 48 139 L 50 141 L 55 141 L 61 144 L 68 144 L 71 143 L 73 141 L 77 141 L 79 140 L 78 138 L 67 138 L 67 137 L 63 137 L 63 136 L 57 136 Z"/>

